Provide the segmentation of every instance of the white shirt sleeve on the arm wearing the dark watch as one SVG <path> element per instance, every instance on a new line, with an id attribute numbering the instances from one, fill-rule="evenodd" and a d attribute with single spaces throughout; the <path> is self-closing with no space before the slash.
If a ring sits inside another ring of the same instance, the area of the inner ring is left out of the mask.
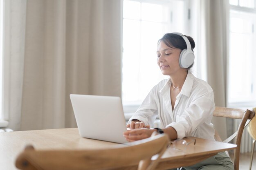
<path id="1" fill-rule="evenodd" d="M 184 113 L 177 114 L 176 121 L 166 127 L 173 127 L 177 132 L 177 138 L 182 139 L 191 135 L 191 132 L 201 124 L 210 123 L 214 109 L 213 91 L 200 92 L 195 94 L 194 99 L 189 107 L 184 110 Z"/>

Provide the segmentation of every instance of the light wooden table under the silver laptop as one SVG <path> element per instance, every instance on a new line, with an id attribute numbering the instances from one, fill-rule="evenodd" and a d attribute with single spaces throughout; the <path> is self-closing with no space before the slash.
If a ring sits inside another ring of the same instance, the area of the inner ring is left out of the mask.
<path id="1" fill-rule="evenodd" d="M 195 137 L 184 139 L 188 142 L 196 139 L 196 144 L 187 145 L 186 150 L 169 147 L 162 156 L 157 170 L 190 166 L 218 152 L 236 148 L 234 144 Z M 82 138 L 77 128 L 2 132 L 0 133 L 0 170 L 17 170 L 14 165 L 16 157 L 27 144 L 32 144 L 36 149 L 96 149 L 116 145 L 107 141 Z M 132 166 L 126 170 L 136 168 Z"/>

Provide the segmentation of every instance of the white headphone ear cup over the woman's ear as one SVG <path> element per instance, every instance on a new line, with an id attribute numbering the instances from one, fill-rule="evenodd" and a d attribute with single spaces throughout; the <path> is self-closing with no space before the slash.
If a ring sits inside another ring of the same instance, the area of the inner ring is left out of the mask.
<path id="1" fill-rule="evenodd" d="M 180 53 L 179 63 L 181 68 L 189 68 L 194 62 L 195 55 L 193 51 L 184 49 Z"/>

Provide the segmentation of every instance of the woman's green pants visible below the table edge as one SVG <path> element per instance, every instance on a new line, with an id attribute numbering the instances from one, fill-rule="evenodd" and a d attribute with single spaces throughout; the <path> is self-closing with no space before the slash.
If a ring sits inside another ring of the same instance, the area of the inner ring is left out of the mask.
<path id="1" fill-rule="evenodd" d="M 234 170 L 234 164 L 225 152 L 219 152 L 193 166 L 183 167 L 185 170 Z M 182 170 L 183 170 L 182 169 Z M 177 168 L 171 169 L 177 170 Z"/>

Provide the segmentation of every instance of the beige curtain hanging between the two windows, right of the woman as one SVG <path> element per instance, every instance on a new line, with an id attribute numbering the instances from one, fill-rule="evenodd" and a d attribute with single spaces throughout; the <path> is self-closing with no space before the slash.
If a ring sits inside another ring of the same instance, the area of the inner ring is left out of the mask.
<path id="1" fill-rule="evenodd" d="M 201 55 L 207 64 L 207 82 L 213 88 L 216 106 L 226 106 L 227 56 L 229 55 L 229 1 L 200 1 Z M 227 138 L 227 124 L 223 118 L 213 118 L 222 139 Z"/>

